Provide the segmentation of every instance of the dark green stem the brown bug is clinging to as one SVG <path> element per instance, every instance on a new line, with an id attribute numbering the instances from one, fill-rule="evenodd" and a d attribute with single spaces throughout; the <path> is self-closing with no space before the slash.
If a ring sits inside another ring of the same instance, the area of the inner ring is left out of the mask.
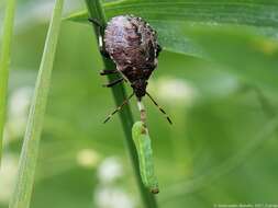
<path id="1" fill-rule="evenodd" d="M 100 0 L 86 0 L 86 2 L 87 2 L 87 8 L 89 11 L 90 18 L 96 18 L 103 25 L 105 25 L 105 15 L 104 15 Z M 97 35 L 99 35 L 98 31 L 99 30 L 97 30 L 94 26 L 94 32 Z M 115 69 L 115 66 L 111 60 L 105 59 L 105 58 L 102 58 L 102 59 L 103 59 L 103 65 L 105 69 L 111 69 L 111 70 Z M 115 78 L 116 76 L 109 76 L 109 81 L 112 81 Z M 116 105 L 121 105 L 122 102 L 126 99 L 126 93 L 125 93 L 123 84 L 118 84 L 116 86 L 112 88 L 112 93 L 113 93 Z M 126 138 L 125 140 L 129 148 L 129 153 L 130 153 L 132 164 L 135 171 L 135 176 L 138 184 L 138 188 L 141 190 L 143 203 L 146 208 L 156 208 L 157 204 L 156 204 L 155 197 L 144 187 L 141 181 L 136 149 L 132 140 L 132 126 L 133 126 L 134 120 L 133 120 L 129 105 L 123 107 L 123 109 L 119 114 L 122 122 L 122 127 L 123 127 L 124 135 Z"/>

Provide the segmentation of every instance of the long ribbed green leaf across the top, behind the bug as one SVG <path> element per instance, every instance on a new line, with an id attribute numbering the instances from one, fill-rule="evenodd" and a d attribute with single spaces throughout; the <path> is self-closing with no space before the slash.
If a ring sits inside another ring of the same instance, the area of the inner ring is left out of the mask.
<path id="1" fill-rule="evenodd" d="M 104 9 L 108 18 L 132 13 L 146 19 L 157 30 L 164 48 L 197 57 L 207 54 L 188 36 L 187 31 L 196 25 L 244 25 L 276 38 L 278 33 L 275 0 L 125 0 L 105 3 Z M 87 18 L 84 11 L 68 19 L 87 22 Z"/>

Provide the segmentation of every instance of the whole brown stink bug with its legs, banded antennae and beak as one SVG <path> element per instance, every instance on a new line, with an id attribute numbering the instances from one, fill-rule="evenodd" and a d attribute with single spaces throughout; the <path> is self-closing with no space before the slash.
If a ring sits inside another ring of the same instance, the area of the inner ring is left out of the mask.
<path id="1" fill-rule="evenodd" d="M 99 28 L 101 54 L 112 59 L 116 66 L 115 70 L 102 70 L 100 74 L 121 74 L 120 79 L 105 84 L 105 86 L 110 88 L 125 80 L 133 88 L 133 93 L 107 117 L 104 123 L 127 104 L 135 94 L 142 122 L 145 123 L 146 119 L 142 97 L 147 95 L 171 124 L 169 116 L 146 91 L 147 80 L 157 66 L 157 57 L 162 50 L 157 43 L 156 32 L 143 19 L 134 15 L 114 16 L 107 25 L 101 25 L 96 19 L 89 19 L 89 21 Z"/>

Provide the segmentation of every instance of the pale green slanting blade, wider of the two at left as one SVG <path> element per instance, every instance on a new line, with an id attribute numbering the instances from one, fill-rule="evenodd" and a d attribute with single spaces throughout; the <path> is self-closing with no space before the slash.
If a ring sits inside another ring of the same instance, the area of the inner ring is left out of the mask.
<path id="1" fill-rule="evenodd" d="M 29 208 L 30 206 L 53 62 L 60 27 L 63 3 L 64 0 L 56 0 L 55 2 L 55 9 L 46 37 L 35 92 L 29 114 L 19 172 L 14 193 L 9 206 L 10 208 Z"/>

